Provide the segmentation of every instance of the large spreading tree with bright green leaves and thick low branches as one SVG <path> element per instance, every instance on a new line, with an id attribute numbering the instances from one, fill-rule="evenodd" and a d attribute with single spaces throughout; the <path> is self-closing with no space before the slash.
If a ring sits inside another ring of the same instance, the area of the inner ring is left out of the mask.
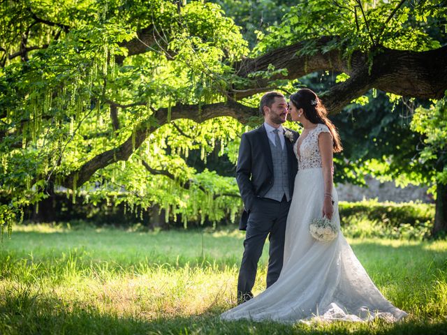
<path id="1" fill-rule="evenodd" d="M 257 94 L 294 90 L 318 70 L 346 79 L 321 94 L 331 114 L 373 88 L 442 98 L 447 46 L 433 36 L 444 34 L 445 5 L 299 1 L 249 50 L 233 20 L 204 1 L 3 1 L 3 221 L 55 186 L 73 201 L 89 190 L 91 201 L 159 203 L 185 220 L 234 215 L 233 179 L 197 174 L 185 163 L 190 150 L 205 160 L 219 142 L 235 162 Z"/>

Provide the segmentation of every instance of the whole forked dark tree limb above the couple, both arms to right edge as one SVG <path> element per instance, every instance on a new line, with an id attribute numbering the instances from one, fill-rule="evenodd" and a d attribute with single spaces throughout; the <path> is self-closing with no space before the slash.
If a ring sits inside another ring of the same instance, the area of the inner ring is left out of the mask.
<path id="1" fill-rule="evenodd" d="M 269 79 L 249 82 L 248 87 L 230 92 L 235 98 L 251 96 L 259 91 L 266 91 L 268 83 L 274 79 L 297 79 L 319 70 L 344 72 L 350 80 L 336 84 L 325 92 L 323 101 L 330 113 L 337 113 L 353 98 L 361 96 L 372 88 L 380 89 L 400 96 L 415 98 L 441 98 L 447 89 L 447 46 L 425 52 L 408 50 L 390 50 L 382 48 L 369 61 L 367 54 L 354 52 L 352 57 L 342 57 L 340 50 L 323 52 L 321 47 L 336 37 L 323 37 L 313 41 L 317 50 L 312 57 L 300 56 L 299 52 L 307 42 L 289 45 L 256 59 L 246 59 L 236 64 L 241 77 L 250 73 L 268 70 L 269 64 L 274 68 L 286 68 L 287 75 L 276 75 Z"/>

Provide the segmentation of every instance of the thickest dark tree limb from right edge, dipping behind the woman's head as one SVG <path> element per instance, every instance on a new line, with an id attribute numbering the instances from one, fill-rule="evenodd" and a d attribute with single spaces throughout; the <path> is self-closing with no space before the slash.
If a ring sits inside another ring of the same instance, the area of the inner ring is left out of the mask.
<path id="1" fill-rule="evenodd" d="M 349 80 L 335 84 L 321 95 L 331 114 L 369 89 L 415 98 L 442 98 L 447 89 L 447 46 L 427 52 L 383 50 L 371 69 L 365 64 Z"/>

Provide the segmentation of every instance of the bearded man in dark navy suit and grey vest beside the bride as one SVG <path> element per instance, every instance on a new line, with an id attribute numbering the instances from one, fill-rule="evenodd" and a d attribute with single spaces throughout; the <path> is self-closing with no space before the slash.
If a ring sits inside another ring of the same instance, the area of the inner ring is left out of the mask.
<path id="1" fill-rule="evenodd" d="M 237 281 L 237 302 L 253 297 L 258 260 L 269 236 L 267 287 L 277 281 L 284 253 L 286 219 L 298 162 L 293 144 L 298 133 L 283 128 L 288 105 L 278 92 L 261 98 L 264 124 L 244 133 L 240 142 L 236 180 L 244 202 L 240 230 L 247 230 Z"/>

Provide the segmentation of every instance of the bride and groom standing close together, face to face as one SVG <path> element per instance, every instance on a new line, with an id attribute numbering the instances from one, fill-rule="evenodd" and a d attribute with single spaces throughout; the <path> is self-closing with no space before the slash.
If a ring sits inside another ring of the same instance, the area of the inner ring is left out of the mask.
<path id="1" fill-rule="evenodd" d="M 264 124 L 242 135 L 236 179 L 244 202 L 246 230 L 237 281 L 238 306 L 222 320 L 394 321 L 406 313 L 393 306 L 367 275 L 344 239 L 317 241 L 309 223 L 325 216 L 339 230 L 332 154 L 342 150 L 335 126 L 310 89 L 290 104 L 278 92 L 261 98 Z M 285 129 L 287 114 L 303 130 Z M 258 260 L 269 237 L 267 289 L 254 297 Z"/>

